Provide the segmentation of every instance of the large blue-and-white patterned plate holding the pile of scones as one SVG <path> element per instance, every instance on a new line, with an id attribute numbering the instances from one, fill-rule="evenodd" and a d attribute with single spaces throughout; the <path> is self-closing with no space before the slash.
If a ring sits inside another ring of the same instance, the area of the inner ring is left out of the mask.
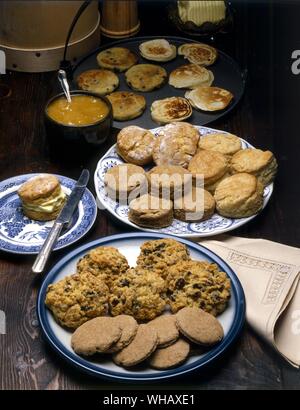
<path id="1" fill-rule="evenodd" d="M 211 134 L 214 132 L 221 132 L 225 135 L 228 134 L 225 131 L 216 130 L 213 128 L 207 127 L 200 127 L 196 126 L 202 135 Z M 158 131 L 162 127 L 158 127 L 152 129 L 152 133 L 154 135 L 158 134 Z M 242 141 L 242 148 L 254 148 L 249 142 L 241 139 Z M 233 229 L 239 228 L 240 226 L 246 224 L 247 222 L 251 221 L 251 219 L 255 218 L 256 215 L 250 216 L 248 218 L 239 218 L 239 219 L 231 219 L 225 218 L 217 213 L 215 213 L 210 219 L 207 219 L 203 222 L 182 222 L 178 219 L 174 219 L 172 225 L 161 228 L 161 229 L 147 229 L 142 228 L 128 219 L 128 206 L 120 205 L 118 202 L 113 201 L 111 198 L 108 197 L 107 192 L 104 186 L 104 175 L 109 168 L 112 168 L 118 164 L 124 163 L 123 159 L 119 157 L 116 151 L 116 145 L 113 145 L 107 153 L 100 159 L 98 162 L 95 175 L 94 175 L 94 182 L 95 182 L 95 189 L 97 193 L 97 197 L 99 200 L 98 206 L 100 209 L 107 209 L 113 216 L 115 216 L 120 221 L 130 225 L 136 229 L 148 232 L 159 232 L 159 233 L 167 233 L 171 235 L 176 235 L 180 237 L 186 238 L 193 238 L 193 237 L 205 237 L 205 236 L 213 236 L 219 235 Z M 270 184 L 265 188 L 264 191 L 264 205 L 263 208 L 267 205 L 271 195 L 273 192 L 273 184 Z"/>

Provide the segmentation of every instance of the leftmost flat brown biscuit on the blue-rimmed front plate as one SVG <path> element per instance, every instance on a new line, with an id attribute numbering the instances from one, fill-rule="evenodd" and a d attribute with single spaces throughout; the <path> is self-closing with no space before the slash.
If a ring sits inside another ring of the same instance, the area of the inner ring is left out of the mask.
<path id="1" fill-rule="evenodd" d="M 91 356 L 106 352 L 122 334 L 121 327 L 111 317 L 96 317 L 81 325 L 72 335 L 72 349 L 80 355 Z"/>

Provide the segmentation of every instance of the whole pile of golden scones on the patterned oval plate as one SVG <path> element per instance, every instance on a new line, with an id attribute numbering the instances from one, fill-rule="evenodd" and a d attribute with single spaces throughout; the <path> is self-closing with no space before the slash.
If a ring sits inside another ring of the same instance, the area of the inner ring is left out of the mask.
<path id="1" fill-rule="evenodd" d="M 116 149 L 126 163 L 106 172 L 107 193 L 129 205 L 130 221 L 153 229 L 174 218 L 200 222 L 215 211 L 227 218 L 255 215 L 277 171 L 272 152 L 242 149 L 241 139 L 228 133 L 200 135 L 185 122 L 165 125 L 156 137 L 125 127 Z"/>

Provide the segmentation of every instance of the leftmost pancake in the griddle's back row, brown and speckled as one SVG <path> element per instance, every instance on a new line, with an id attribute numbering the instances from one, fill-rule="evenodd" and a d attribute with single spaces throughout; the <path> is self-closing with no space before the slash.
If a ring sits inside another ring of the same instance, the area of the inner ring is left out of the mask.
<path id="1" fill-rule="evenodd" d="M 100 67 L 115 71 L 125 71 L 137 63 L 137 56 L 127 48 L 112 47 L 97 55 Z"/>

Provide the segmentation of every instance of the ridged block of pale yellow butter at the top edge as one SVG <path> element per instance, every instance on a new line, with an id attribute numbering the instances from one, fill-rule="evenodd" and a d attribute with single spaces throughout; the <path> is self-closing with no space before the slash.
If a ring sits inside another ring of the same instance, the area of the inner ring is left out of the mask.
<path id="1" fill-rule="evenodd" d="M 178 1 L 178 13 L 181 21 L 192 21 L 197 26 L 203 23 L 217 23 L 226 16 L 224 1 Z"/>

